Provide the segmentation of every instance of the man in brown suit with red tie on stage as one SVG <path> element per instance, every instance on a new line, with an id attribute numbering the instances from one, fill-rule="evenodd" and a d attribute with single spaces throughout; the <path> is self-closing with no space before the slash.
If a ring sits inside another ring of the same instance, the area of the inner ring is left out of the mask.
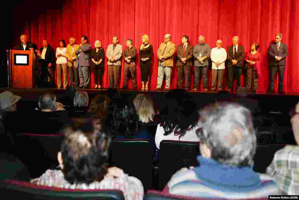
<path id="1" fill-rule="evenodd" d="M 178 67 L 178 85 L 182 88 L 183 72 L 185 76 L 185 90 L 189 90 L 190 70 L 192 67 L 193 46 L 188 44 L 189 36 L 183 35 L 182 43 L 178 46 L 176 66 Z M 184 71 L 183 71 L 184 70 Z"/>

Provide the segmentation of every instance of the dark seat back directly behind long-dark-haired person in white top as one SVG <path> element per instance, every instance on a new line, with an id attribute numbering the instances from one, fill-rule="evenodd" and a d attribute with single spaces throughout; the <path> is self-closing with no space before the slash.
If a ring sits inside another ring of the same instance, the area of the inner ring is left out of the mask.
<path id="1" fill-rule="evenodd" d="M 199 142 L 163 140 L 159 150 L 159 190 L 182 167 L 198 166 Z"/>

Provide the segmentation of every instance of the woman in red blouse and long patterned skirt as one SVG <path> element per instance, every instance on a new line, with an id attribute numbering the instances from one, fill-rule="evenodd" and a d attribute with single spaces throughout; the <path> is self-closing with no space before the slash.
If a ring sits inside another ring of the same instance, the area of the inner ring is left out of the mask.
<path id="1" fill-rule="evenodd" d="M 247 62 L 247 78 L 246 78 L 246 88 L 248 92 L 256 92 L 259 88 L 259 76 L 260 76 L 260 61 L 261 54 L 257 52 L 259 44 L 256 42 L 252 43 L 251 52 L 246 56 Z"/>

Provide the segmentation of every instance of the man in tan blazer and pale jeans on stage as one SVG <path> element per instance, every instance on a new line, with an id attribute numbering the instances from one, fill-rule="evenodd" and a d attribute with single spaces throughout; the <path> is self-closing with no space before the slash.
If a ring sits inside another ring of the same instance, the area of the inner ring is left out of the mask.
<path id="1" fill-rule="evenodd" d="M 158 49 L 158 82 L 155 90 L 161 90 L 164 73 L 166 75 L 166 87 L 165 90 L 169 90 L 170 87 L 170 75 L 173 67 L 173 55 L 176 52 L 176 45 L 171 41 L 171 35 L 166 34 L 164 36 L 164 42 L 162 42 Z"/>

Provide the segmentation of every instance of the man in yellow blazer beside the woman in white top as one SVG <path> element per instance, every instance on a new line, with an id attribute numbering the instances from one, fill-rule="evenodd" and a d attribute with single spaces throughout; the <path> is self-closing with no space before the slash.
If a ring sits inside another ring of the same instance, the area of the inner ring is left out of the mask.
<path id="1" fill-rule="evenodd" d="M 74 37 L 71 37 L 69 40 L 69 44 L 66 48 L 66 56 L 68 58 L 68 67 L 70 67 L 71 86 L 77 88 L 79 84 L 79 76 L 78 76 L 78 68 L 76 66 L 77 55 L 75 54 L 75 52 L 79 48 L 79 45 L 75 44 L 75 42 L 76 39 Z"/>

